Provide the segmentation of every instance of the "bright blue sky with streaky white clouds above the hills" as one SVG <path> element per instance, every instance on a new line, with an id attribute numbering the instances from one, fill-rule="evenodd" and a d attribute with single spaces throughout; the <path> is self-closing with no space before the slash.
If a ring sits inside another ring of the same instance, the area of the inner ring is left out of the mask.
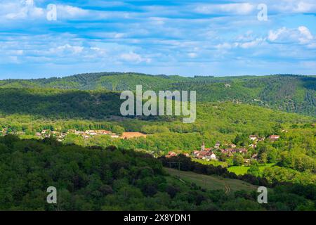
<path id="1" fill-rule="evenodd" d="M 47 20 L 48 4 L 57 20 Z M 0 79 L 316 75 L 315 0 L 1 0 L 0 20 Z"/>

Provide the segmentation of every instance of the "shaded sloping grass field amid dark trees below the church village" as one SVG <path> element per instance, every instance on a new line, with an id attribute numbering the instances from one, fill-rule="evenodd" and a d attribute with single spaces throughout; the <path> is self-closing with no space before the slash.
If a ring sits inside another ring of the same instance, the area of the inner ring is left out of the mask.
<path id="1" fill-rule="evenodd" d="M 176 176 L 181 181 L 197 184 L 205 189 L 210 190 L 224 190 L 226 193 L 245 190 L 254 191 L 258 187 L 248 184 L 244 181 L 236 179 L 225 179 L 220 176 L 209 176 L 204 174 L 196 174 L 194 172 L 179 171 L 177 169 L 166 168 L 171 176 Z"/>

